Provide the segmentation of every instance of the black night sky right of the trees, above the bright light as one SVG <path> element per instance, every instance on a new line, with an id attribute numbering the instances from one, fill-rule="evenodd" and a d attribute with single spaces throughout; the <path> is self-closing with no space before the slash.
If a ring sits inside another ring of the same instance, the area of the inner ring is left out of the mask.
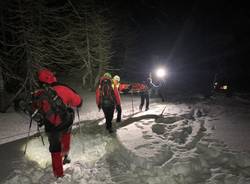
<path id="1" fill-rule="evenodd" d="M 106 2 L 137 31 L 139 72 L 158 59 L 175 73 L 222 72 L 235 80 L 249 79 L 250 13 L 242 2 Z"/>

